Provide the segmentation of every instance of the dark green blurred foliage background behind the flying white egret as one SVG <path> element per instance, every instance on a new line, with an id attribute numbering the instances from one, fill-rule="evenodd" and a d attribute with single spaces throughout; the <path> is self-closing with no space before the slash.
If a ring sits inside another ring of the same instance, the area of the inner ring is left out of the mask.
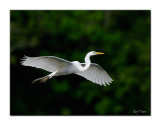
<path id="1" fill-rule="evenodd" d="M 11 115 L 150 115 L 150 16 L 145 11 L 10 11 Z M 20 65 L 24 56 L 91 61 L 114 80 L 99 86 L 77 75 L 32 80 L 49 72 Z M 138 113 L 135 113 L 137 111 Z"/>

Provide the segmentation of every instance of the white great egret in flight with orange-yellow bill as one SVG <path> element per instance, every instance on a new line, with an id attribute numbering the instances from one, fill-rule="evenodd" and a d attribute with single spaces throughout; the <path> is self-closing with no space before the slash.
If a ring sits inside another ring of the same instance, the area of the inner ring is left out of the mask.
<path id="1" fill-rule="evenodd" d="M 98 54 L 104 53 L 95 51 L 87 53 L 85 57 L 85 63 L 79 63 L 78 61 L 70 62 L 55 56 L 24 56 L 21 64 L 23 66 L 41 68 L 49 72 L 52 72 L 47 76 L 35 79 L 32 83 L 37 81 L 44 83 L 47 79 L 50 79 L 53 76 L 77 74 L 94 83 L 106 86 L 106 83 L 109 85 L 109 83 L 111 83 L 113 80 L 108 75 L 108 73 L 104 69 L 102 69 L 98 64 L 91 63 L 90 61 L 91 56 Z"/>

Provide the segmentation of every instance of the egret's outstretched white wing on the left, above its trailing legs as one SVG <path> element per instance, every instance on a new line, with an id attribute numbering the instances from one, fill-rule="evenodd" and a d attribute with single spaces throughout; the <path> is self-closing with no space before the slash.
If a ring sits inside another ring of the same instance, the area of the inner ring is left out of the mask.
<path id="1" fill-rule="evenodd" d="M 31 66 L 31 67 L 41 68 L 49 72 L 54 72 L 56 70 L 59 70 L 60 68 L 70 65 L 71 62 L 64 59 L 60 59 L 55 56 L 40 56 L 40 57 L 24 56 L 21 64 L 23 66 Z"/>

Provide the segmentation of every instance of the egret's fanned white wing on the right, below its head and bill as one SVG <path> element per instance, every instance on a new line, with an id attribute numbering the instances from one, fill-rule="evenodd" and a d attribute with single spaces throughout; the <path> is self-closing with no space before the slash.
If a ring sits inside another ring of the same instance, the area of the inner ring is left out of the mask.
<path id="1" fill-rule="evenodd" d="M 84 66 L 85 64 L 81 65 Z M 112 78 L 108 75 L 108 73 L 95 63 L 91 63 L 90 67 L 86 71 L 76 74 L 83 76 L 87 80 L 104 86 L 106 86 L 106 83 L 109 85 L 109 83 L 112 83 L 113 81 Z"/>

